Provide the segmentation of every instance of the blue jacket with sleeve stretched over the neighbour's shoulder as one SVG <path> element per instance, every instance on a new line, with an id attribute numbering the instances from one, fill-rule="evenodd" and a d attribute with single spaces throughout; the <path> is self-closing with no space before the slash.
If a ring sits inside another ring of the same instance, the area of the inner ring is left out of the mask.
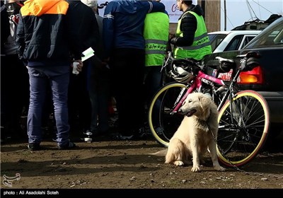
<path id="1" fill-rule="evenodd" d="M 106 57 L 122 47 L 144 50 L 144 19 L 146 13 L 165 11 L 164 4 L 152 1 L 113 0 L 103 16 L 103 42 Z"/>

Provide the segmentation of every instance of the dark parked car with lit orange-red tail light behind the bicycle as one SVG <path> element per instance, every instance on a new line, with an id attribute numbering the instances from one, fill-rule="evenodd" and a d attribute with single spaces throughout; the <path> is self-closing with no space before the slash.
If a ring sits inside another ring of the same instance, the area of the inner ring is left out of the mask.
<path id="1" fill-rule="evenodd" d="M 262 30 L 242 50 L 216 52 L 204 57 L 204 64 L 215 57 L 235 58 L 250 51 L 260 53 L 259 65 L 241 72 L 238 79 L 242 90 L 253 89 L 262 94 L 270 107 L 272 132 L 283 132 L 283 17 Z M 229 76 L 224 76 L 224 79 Z"/>

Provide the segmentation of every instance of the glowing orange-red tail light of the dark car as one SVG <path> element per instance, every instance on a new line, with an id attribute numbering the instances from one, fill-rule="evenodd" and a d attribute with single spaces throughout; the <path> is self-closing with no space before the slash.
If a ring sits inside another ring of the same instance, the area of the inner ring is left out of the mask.
<path id="1" fill-rule="evenodd" d="M 260 66 L 256 66 L 251 71 L 242 71 L 239 78 L 238 84 L 262 84 L 263 74 Z"/>

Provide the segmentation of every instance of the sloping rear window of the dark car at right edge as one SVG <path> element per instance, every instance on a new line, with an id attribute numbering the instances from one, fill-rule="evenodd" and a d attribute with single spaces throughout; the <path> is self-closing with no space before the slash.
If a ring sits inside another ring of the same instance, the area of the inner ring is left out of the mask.
<path id="1" fill-rule="evenodd" d="M 243 49 L 283 46 L 283 18 L 277 19 L 256 36 Z"/>

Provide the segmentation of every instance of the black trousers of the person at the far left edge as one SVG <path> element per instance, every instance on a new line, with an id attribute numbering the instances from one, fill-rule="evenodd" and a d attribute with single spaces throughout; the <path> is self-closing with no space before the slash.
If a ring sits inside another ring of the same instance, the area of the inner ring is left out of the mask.
<path id="1" fill-rule="evenodd" d="M 5 128 L 1 135 L 21 133 L 20 119 L 23 107 L 28 109 L 29 95 L 28 69 L 18 54 L 1 57 L 1 127 Z"/>

